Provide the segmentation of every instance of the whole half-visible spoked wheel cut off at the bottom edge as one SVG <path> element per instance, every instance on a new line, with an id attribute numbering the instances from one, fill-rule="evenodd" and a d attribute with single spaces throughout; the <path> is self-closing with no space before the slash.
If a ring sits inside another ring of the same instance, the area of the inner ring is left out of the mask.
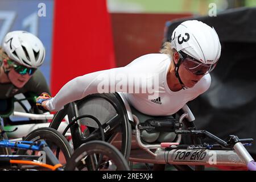
<path id="1" fill-rule="evenodd" d="M 89 159 L 89 160 L 86 160 Z M 89 161 L 89 162 L 88 162 Z M 93 140 L 82 144 L 65 166 L 67 171 L 129 171 L 129 166 L 121 152 L 111 144 Z"/>

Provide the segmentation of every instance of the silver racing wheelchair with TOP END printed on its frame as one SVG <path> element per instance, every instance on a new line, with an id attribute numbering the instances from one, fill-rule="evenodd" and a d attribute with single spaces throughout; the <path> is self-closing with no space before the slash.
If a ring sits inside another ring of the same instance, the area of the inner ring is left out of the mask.
<path id="1" fill-rule="evenodd" d="M 230 135 L 225 141 L 196 130 L 187 105 L 174 115 L 154 117 L 131 107 L 120 93 L 91 94 L 65 105 L 49 127 L 57 130 L 66 114 L 69 125 L 65 131 L 70 128 L 75 150 L 91 140 L 105 140 L 119 148 L 129 162 L 172 164 L 178 170 L 204 170 L 212 165 L 256 170 L 245 148 L 253 139 Z M 201 143 L 203 138 L 213 143 Z"/>

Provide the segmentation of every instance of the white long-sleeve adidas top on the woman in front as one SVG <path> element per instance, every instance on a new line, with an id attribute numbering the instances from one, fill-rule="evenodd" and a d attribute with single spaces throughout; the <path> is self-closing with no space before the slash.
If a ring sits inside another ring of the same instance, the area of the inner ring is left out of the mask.
<path id="1" fill-rule="evenodd" d="M 113 68 L 79 76 L 67 82 L 46 107 L 58 111 L 69 102 L 93 93 L 121 92 L 137 110 L 148 115 L 171 115 L 188 101 L 204 93 L 210 86 L 207 74 L 195 86 L 172 92 L 167 73 L 172 58 L 152 53 L 138 57 L 126 67 Z"/>

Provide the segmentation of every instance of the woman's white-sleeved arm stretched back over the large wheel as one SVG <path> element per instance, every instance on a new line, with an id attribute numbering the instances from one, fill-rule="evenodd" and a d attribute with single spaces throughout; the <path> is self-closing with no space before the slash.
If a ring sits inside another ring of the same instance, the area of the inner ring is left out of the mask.
<path id="1" fill-rule="evenodd" d="M 80 100 L 89 94 L 120 92 L 120 90 L 115 90 L 115 87 L 121 84 L 122 90 L 125 90 L 125 88 L 128 90 L 129 85 L 124 80 L 128 80 L 128 77 L 129 79 L 134 79 L 136 77 L 134 72 L 137 71 L 129 67 L 121 67 L 76 77 L 67 82 L 55 97 L 44 101 L 42 106 L 45 106 L 45 109 L 50 111 L 58 111 L 63 109 L 64 105 L 69 102 Z M 140 87 L 140 85 L 133 86 Z"/>

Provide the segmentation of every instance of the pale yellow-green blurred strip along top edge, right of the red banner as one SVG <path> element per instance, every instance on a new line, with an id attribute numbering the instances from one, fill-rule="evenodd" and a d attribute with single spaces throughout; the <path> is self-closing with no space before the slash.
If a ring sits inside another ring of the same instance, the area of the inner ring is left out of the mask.
<path id="1" fill-rule="evenodd" d="M 108 0 L 110 13 L 192 13 L 207 15 L 209 4 L 215 3 L 221 12 L 236 7 L 256 6 L 254 0 Z"/>

